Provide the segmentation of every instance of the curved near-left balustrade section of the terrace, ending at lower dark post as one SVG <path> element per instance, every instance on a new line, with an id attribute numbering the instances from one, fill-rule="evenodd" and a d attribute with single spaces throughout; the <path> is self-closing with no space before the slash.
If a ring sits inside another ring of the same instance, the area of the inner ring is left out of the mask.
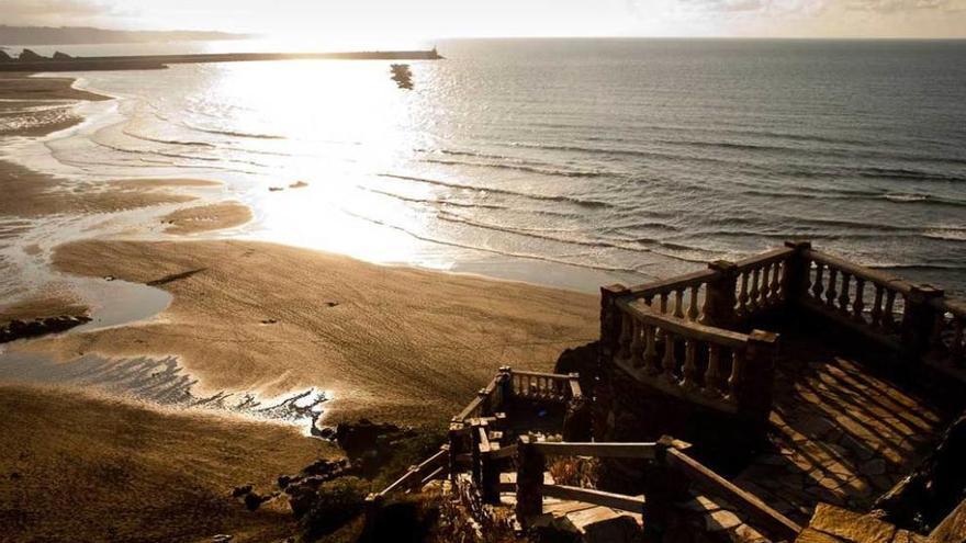
<path id="1" fill-rule="evenodd" d="M 777 336 L 750 335 L 617 302 L 621 332 L 614 362 L 666 394 L 728 412 L 767 416 Z"/>

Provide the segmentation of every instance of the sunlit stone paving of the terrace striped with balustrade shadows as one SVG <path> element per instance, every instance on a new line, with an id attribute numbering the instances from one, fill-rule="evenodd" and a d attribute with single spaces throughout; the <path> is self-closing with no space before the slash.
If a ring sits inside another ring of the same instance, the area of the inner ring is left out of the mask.
<path id="1" fill-rule="evenodd" d="M 941 412 L 857 362 L 817 350 L 813 338 L 785 337 L 782 352 L 772 451 L 734 483 L 800 524 L 820 501 L 868 510 L 942 431 Z"/>

